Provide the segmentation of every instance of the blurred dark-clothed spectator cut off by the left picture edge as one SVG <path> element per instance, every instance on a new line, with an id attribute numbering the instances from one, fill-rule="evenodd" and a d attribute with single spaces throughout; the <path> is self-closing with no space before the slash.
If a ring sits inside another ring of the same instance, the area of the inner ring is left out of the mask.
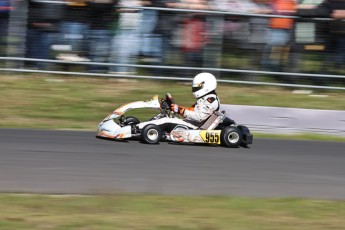
<path id="1" fill-rule="evenodd" d="M 11 0 L 0 0 L 0 56 L 6 55 Z"/>

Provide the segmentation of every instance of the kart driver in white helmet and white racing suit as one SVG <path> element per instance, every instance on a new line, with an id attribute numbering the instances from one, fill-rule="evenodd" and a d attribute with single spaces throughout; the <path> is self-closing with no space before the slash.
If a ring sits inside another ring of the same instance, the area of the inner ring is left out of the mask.
<path id="1" fill-rule="evenodd" d="M 194 125 L 204 122 L 214 111 L 220 107 L 216 94 L 217 80 L 211 73 L 199 73 L 193 79 L 192 91 L 197 99 L 189 108 L 171 104 L 170 110 L 182 115 L 187 122 Z"/>

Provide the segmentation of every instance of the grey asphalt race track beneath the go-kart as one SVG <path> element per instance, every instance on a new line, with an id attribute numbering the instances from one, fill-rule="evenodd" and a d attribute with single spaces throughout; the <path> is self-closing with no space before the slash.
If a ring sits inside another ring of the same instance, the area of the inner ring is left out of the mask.
<path id="1" fill-rule="evenodd" d="M 345 143 L 254 138 L 228 149 L 0 129 L 0 192 L 345 199 Z"/>

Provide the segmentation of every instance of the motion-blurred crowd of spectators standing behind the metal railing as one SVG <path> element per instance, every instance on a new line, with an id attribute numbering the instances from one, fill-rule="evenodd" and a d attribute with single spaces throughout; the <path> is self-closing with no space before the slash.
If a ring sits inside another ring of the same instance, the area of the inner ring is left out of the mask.
<path id="1" fill-rule="evenodd" d="M 255 63 L 249 68 L 291 71 L 300 61 L 292 55 L 299 49 L 296 41 L 302 53 L 322 54 L 320 61 L 332 66 L 327 73 L 344 70 L 345 0 L 0 0 L 0 56 L 9 56 L 9 28 L 24 5 L 25 57 L 118 64 L 90 65 L 90 72 L 131 74 L 137 72 L 131 64 L 138 63 L 221 68 L 228 57 L 235 62 L 232 54 L 235 60 L 245 54 Z M 304 21 L 241 14 L 296 15 Z M 320 17 L 331 20 L 309 19 Z M 50 68 L 43 62 L 26 65 Z"/>

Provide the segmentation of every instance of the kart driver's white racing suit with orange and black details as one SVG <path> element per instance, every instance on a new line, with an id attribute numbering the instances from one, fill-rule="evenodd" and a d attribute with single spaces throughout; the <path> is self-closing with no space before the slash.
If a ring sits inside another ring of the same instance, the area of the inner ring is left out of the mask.
<path id="1" fill-rule="evenodd" d="M 192 124 L 200 124 L 205 121 L 214 111 L 218 111 L 220 101 L 214 92 L 206 94 L 198 98 L 196 103 L 189 108 L 172 104 L 171 108 L 174 112 L 178 112 L 187 122 Z"/>

